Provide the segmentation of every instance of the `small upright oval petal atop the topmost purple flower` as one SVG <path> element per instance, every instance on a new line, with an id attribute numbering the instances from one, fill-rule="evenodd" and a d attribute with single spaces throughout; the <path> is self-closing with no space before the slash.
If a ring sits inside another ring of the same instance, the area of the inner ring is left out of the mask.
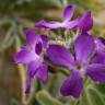
<path id="1" fill-rule="evenodd" d="M 66 7 L 63 11 L 63 20 L 69 21 L 74 13 L 74 7 L 73 5 L 68 5 Z"/>

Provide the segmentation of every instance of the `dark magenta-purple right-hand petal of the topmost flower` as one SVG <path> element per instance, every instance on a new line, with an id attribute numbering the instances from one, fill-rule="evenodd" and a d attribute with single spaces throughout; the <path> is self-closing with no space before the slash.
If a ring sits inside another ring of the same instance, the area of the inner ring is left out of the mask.
<path id="1" fill-rule="evenodd" d="M 86 32 L 86 31 L 90 31 L 92 26 L 93 26 L 93 19 L 91 18 L 91 11 L 88 11 L 80 19 L 79 27 L 82 32 Z"/>

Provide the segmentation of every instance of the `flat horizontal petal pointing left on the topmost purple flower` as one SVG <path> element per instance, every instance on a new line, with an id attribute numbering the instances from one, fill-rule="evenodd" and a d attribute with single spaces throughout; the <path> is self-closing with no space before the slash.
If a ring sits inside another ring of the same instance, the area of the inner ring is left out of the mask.
<path id="1" fill-rule="evenodd" d="M 36 23 L 35 26 L 39 27 L 39 28 L 58 28 L 60 26 L 60 24 L 58 22 L 40 21 L 40 22 Z"/>

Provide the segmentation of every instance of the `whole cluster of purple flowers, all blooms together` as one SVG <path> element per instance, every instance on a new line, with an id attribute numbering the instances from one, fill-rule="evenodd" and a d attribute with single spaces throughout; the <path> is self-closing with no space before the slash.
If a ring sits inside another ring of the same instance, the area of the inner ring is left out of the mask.
<path id="1" fill-rule="evenodd" d="M 36 34 L 34 30 L 26 31 L 27 45 L 14 57 L 15 62 L 26 63 L 27 66 L 28 81 L 26 93 L 31 91 L 34 78 L 43 82 L 48 81 L 49 70 L 45 55 L 47 55 L 54 66 L 62 66 L 70 70 L 70 75 L 67 77 L 60 89 L 60 93 L 63 96 L 79 97 L 83 91 L 84 75 L 90 77 L 93 81 L 105 83 L 105 39 L 101 36 L 94 39 L 88 33 L 93 26 L 91 11 L 72 21 L 73 13 L 74 7 L 68 5 L 63 11 L 62 22 L 39 21 L 35 24 L 38 28 L 78 30 L 78 36 L 73 38 L 72 44 L 73 51 L 66 46 L 50 43 L 48 35 Z"/>

